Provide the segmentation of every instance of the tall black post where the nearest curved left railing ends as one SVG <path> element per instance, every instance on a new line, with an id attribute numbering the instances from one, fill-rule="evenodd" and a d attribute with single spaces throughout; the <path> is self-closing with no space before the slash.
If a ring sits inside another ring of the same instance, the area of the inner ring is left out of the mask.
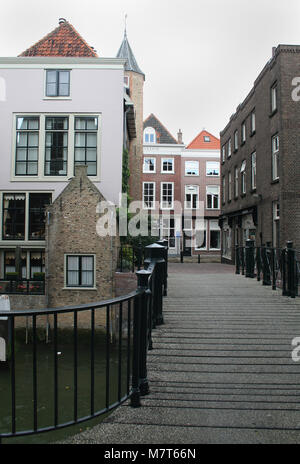
<path id="1" fill-rule="evenodd" d="M 148 329 L 149 329 L 149 313 L 148 313 L 148 280 L 151 275 L 150 271 L 141 270 L 136 272 L 138 278 L 138 289 L 143 293 L 140 298 L 141 311 L 141 333 L 140 333 L 140 368 L 139 368 L 139 388 L 141 396 L 149 393 L 149 384 L 147 379 L 147 351 L 148 351 Z"/>

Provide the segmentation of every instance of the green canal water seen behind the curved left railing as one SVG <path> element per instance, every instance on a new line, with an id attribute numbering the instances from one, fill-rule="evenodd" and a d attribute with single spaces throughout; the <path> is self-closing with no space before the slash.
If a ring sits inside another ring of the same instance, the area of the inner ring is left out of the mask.
<path id="1" fill-rule="evenodd" d="M 25 344 L 21 331 L 16 337 L 16 430 L 33 428 L 33 346 Z M 127 340 L 122 340 L 121 397 L 127 390 Z M 94 411 L 105 408 L 106 402 L 106 340 L 102 332 L 95 334 L 94 353 Z M 58 336 L 58 423 L 74 418 L 74 348 L 71 331 Z M 91 408 L 91 340 L 88 331 L 78 333 L 77 368 L 77 417 L 90 414 Z M 110 345 L 110 393 L 109 404 L 118 399 L 118 343 Z M 86 430 L 103 420 L 103 416 L 53 432 L 14 438 L 3 438 L 2 443 L 53 443 Z M 53 344 L 40 341 L 37 344 L 37 421 L 38 427 L 54 423 L 54 349 Z M 0 369 L 0 433 L 11 431 L 11 369 Z"/>

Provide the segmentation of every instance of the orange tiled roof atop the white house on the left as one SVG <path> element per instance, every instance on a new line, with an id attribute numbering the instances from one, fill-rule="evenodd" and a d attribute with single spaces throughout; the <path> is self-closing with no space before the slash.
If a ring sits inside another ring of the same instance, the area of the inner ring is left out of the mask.
<path id="1" fill-rule="evenodd" d="M 86 43 L 72 24 L 63 18 L 60 18 L 56 29 L 19 56 L 98 57 L 96 51 Z"/>

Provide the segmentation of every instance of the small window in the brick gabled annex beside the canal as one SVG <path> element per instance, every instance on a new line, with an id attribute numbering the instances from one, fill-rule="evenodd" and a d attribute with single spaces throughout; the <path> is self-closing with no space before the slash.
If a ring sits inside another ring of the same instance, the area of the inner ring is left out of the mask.
<path id="1" fill-rule="evenodd" d="M 66 287 L 95 287 L 95 256 L 66 255 Z"/>

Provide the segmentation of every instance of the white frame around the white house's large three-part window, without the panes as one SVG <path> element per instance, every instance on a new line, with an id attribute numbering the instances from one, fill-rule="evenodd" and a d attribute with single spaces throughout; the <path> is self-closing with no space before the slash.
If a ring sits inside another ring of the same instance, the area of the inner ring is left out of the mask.
<path id="1" fill-rule="evenodd" d="M 12 156 L 11 156 L 11 177 L 10 180 L 18 182 L 66 182 L 70 177 L 74 176 L 75 166 L 75 118 L 98 118 L 97 128 L 97 173 L 96 175 L 89 175 L 89 177 L 97 182 L 100 181 L 100 164 L 101 164 L 101 137 L 102 137 L 102 119 L 101 114 L 98 113 L 14 113 L 13 115 L 13 130 L 12 130 Z M 16 148 L 17 148 L 17 118 L 18 117 L 39 117 L 39 147 L 38 147 L 38 174 L 37 175 L 16 175 L 15 162 L 16 162 Z M 68 161 L 67 161 L 67 174 L 57 176 L 45 175 L 45 158 L 46 158 L 46 117 L 68 117 Z"/>

